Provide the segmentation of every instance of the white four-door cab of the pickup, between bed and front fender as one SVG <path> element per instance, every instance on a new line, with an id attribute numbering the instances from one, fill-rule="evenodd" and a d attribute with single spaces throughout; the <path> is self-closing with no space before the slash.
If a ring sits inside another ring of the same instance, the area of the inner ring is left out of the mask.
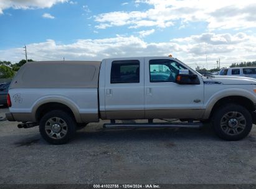
<path id="1" fill-rule="evenodd" d="M 176 77 L 182 70 L 197 83 L 180 85 Z M 103 60 L 99 94 L 104 119 L 195 119 L 204 113 L 202 76 L 171 57 Z"/>

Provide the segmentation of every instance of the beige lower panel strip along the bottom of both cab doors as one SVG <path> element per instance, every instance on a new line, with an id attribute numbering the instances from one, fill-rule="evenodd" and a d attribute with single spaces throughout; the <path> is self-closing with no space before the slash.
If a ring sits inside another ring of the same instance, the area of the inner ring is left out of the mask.
<path id="1" fill-rule="evenodd" d="M 106 111 L 102 119 L 201 119 L 204 109 L 153 109 Z"/>

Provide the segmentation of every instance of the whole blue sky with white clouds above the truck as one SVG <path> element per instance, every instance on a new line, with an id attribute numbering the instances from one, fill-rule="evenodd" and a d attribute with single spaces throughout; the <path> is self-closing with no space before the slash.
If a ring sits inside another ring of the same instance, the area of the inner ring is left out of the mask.
<path id="1" fill-rule="evenodd" d="M 256 60 L 255 0 L 0 0 L 0 60 Z"/>

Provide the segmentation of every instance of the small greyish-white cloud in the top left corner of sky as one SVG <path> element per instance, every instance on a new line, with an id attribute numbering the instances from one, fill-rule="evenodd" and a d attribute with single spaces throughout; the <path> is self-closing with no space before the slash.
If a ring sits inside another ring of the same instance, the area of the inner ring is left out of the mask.
<path id="1" fill-rule="evenodd" d="M 52 7 L 59 2 L 68 2 L 68 0 L 1 0 L 0 14 L 3 14 L 4 9 L 43 9 Z"/>

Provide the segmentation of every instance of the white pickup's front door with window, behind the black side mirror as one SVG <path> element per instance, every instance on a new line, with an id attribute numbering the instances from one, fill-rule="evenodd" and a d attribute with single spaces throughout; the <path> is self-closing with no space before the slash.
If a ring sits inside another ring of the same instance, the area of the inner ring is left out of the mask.
<path id="1" fill-rule="evenodd" d="M 186 65 L 174 58 L 145 58 L 145 117 L 200 118 L 204 84 L 179 85 L 176 76 Z M 192 74 L 193 71 L 189 71 Z M 194 74 L 194 73 L 193 73 Z"/>

